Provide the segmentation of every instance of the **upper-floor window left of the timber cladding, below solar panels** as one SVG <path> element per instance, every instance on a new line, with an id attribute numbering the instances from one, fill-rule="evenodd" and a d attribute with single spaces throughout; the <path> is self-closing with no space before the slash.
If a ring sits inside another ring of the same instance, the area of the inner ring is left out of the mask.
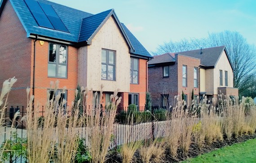
<path id="1" fill-rule="evenodd" d="M 67 76 L 67 46 L 49 43 L 48 76 Z"/>

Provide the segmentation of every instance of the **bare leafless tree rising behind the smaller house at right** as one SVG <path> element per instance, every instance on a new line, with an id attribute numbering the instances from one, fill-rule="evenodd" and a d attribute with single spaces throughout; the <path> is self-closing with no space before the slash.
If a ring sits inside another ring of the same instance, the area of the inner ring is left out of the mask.
<path id="1" fill-rule="evenodd" d="M 256 48 L 254 45 L 248 44 L 246 39 L 236 31 L 209 33 L 208 37 L 203 39 L 170 41 L 159 45 L 157 51 L 152 53 L 158 55 L 223 45 L 225 45 L 234 67 L 234 87 L 239 89 L 239 93 L 242 93 L 251 87 L 254 74 L 256 74 Z"/>

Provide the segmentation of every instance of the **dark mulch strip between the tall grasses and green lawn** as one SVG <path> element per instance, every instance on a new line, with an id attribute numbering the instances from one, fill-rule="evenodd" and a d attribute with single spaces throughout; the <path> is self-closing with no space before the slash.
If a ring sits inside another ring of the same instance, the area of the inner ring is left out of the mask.
<path id="1" fill-rule="evenodd" d="M 212 144 L 209 146 L 204 145 L 201 151 L 195 146 L 194 142 L 192 142 L 187 156 L 183 155 L 180 149 L 178 149 L 178 151 L 177 151 L 176 158 L 173 158 L 171 155 L 168 154 L 169 152 L 166 151 L 165 156 L 163 157 L 163 163 L 178 163 L 178 162 L 184 161 L 186 159 L 196 157 L 200 154 L 204 154 L 204 153 L 211 152 L 213 150 L 217 150 L 224 146 L 231 146 L 232 144 L 245 142 L 249 139 L 255 139 L 255 138 L 256 138 L 256 133 L 254 133 L 252 135 L 243 135 L 243 136 L 236 137 L 236 138 L 232 137 L 231 139 L 227 139 L 226 137 L 224 137 L 223 141 L 212 142 Z M 140 159 L 138 152 L 136 152 L 134 154 L 134 157 L 135 157 L 135 159 L 133 159 L 134 160 L 133 163 L 142 163 L 142 160 Z M 108 159 L 106 160 L 106 163 L 122 163 L 120 154 L 113 153 L 113 154 L 108 155 L 107 158 Z"/>

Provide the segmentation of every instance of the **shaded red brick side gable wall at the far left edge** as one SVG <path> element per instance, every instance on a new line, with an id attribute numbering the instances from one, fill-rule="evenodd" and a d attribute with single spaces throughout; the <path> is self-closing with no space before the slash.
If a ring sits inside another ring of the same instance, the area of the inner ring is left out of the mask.
<path id="1" fill-rule="evenodd" d="M 7 1 L 0 17 L 0 90 L 6 79 L 14 76 L 18 79 L 9 94 L 8 106 L 26 106 L 26 87 L 31 87 L 32 44 Z"/>

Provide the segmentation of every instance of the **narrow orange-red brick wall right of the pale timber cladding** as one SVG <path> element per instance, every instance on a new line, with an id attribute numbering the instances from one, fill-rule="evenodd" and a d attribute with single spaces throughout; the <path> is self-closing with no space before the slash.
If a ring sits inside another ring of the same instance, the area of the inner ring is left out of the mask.
<path id="1" fill-rule="evenodd" d="M 139 84 L 130 84 L 130 93 L 139 94 L 139 106 L 145 106 L 147 87 L 147 60 L 139 59 Z M 122 97 L 123 98 L 123 97 Z M 128 106 L 128 95 L 124 97 L 124 107 Z"/>

